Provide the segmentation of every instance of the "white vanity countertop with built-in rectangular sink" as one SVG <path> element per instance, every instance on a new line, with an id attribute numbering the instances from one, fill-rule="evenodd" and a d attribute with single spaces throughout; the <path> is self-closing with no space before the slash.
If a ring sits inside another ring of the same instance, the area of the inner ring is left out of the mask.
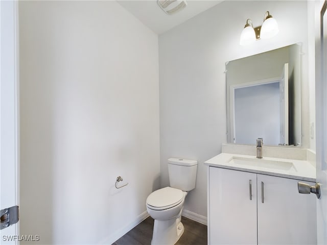
<path id="1" fill-rule="evenodd" d="M 236 163 L 235 161 L 232 161 L 233 158 L 245 161 L 244 163 L 240 164 Z M 267 161 L 267 163 L 278 161 L 278 164 L 281 164 L 281 166 L 284 162 L 285 166 L 293 163 L 293 166 L 289 168 L 285 167 L 284 169 L 283 167 L 281 167 L 280 169 L 278 169 L 269 166 L 269 164 L 266 164 L 265 166 L 265 162 L 263 161 Z M 246 162 L 248 162 L 249 164 L 247 164 Z M 263 157 L 262 159 L 258 159 L 255 156 L 221 153 L 205 161 L 204 164 L 213 167 L 228 168 L 257 174 L 316 182 L 316 168 L 312 166 L 310 162 L 305 160 L 293 160 L 274 157 Z"/>

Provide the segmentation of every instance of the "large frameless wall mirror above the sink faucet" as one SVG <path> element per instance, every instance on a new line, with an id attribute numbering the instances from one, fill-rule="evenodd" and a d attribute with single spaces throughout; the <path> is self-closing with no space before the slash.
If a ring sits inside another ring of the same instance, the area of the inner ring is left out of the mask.
<path id="1" fill-rule="evenodd" d="M 301 43 L 226 62 L 227 142 L 301 145 Z"/>

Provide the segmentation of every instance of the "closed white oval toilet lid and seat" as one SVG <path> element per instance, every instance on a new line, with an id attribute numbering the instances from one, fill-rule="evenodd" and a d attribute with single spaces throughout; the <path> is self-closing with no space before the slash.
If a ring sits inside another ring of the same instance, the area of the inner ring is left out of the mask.
<path id="1" fill-rule="evenodd" d="M 155 210 L 167 209 L 180 204 L 183 198 L 182 190 L 165 187 L 153 191 L 147 198 L 147 205 Z"/>

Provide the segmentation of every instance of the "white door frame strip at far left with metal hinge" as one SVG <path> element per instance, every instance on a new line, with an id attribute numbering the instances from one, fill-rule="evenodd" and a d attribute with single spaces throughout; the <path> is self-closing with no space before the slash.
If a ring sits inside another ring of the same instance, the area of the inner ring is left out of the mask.
<path id="1" fill-rule="evenodd" d="M 16 7 L 14 1 L 0 1 L 0 209 L 18 205 Z M 0 243 L 17 244 L 17 235 L 17 224 L 2 229 Z"/>

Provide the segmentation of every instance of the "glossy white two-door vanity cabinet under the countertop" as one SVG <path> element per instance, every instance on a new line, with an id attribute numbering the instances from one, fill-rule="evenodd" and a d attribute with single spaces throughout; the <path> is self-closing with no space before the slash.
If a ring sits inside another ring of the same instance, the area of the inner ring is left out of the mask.
<path id="1" fill-rule="evenodd" d="M 298 181 L 210 166 L 209 243 L 316 244 L 316 197 Z"/>

